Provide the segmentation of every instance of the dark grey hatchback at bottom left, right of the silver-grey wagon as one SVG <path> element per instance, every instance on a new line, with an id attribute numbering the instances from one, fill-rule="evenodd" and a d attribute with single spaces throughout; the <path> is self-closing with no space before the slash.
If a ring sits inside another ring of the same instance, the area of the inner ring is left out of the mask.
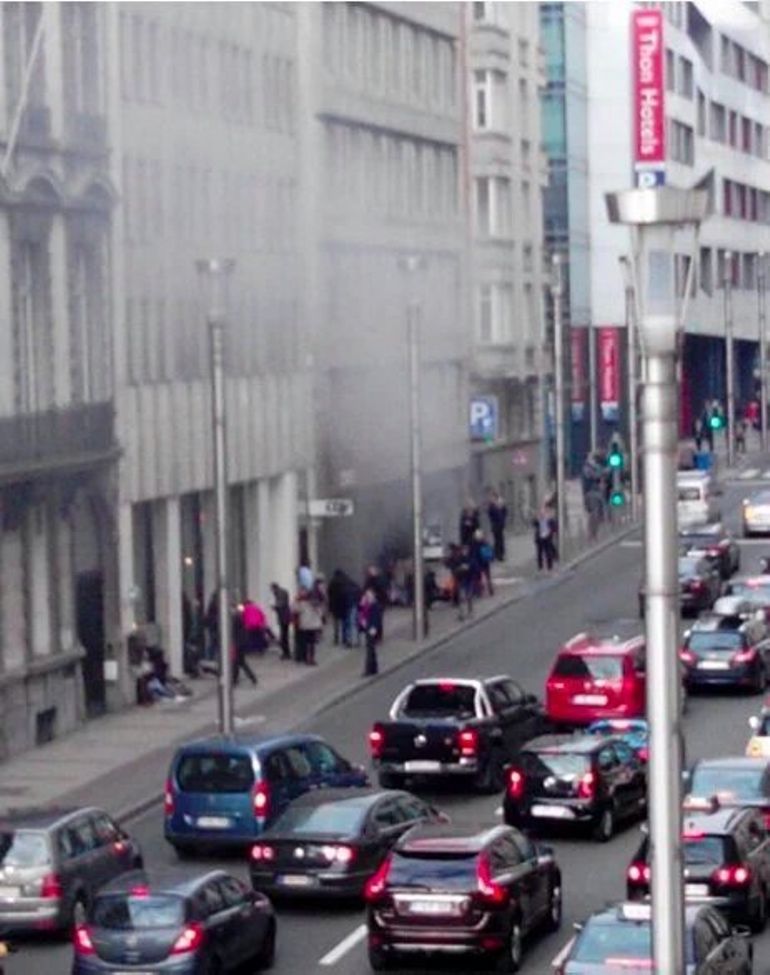
<path id="1" fill-rule="evenodd" d="M 269 968 L 270 901 L 221 870 L 136 872 L 104 887 L 75 928 L 72 975 L 210 975 Z"/>

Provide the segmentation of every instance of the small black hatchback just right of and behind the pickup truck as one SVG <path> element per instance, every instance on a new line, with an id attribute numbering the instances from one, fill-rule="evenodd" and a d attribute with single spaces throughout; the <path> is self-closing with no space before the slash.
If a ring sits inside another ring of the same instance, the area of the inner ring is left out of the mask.
<path id="1" fill-rule="evenodd" d="M 503 816 L 511 826 L 588 824 L 601 842 L 618 820 L 641 815 L 647 770 L 622 738 L 545 735 L 506 770 Z"/>

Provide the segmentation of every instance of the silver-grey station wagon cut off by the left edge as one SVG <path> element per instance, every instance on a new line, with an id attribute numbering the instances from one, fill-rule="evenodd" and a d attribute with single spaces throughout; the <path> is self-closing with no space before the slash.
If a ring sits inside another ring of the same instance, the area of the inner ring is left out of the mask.
<path id="1" fill-rule="evenodd" d="M 0 927 L 68 930 L 102 884 L 141 865 L 137 842 L 101 809 L 0 817 Z"/>

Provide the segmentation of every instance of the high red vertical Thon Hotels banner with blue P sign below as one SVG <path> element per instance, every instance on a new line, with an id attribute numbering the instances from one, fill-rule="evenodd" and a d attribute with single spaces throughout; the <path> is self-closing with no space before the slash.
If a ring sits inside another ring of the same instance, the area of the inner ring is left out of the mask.
<path id="1" fill-rule="evenodd" d="M 631 14 L 631 71 L 634 182 L 660 186 L 666 181 L 665 43 L 660 10 L 645 8 Z"/>

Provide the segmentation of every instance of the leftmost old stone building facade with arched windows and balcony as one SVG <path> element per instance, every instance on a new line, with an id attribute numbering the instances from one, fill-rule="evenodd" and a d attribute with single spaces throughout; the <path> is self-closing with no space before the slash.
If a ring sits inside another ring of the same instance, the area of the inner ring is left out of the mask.
<path id="1" fill-rule="evenodd" d="M 107 705 L 118 638 L 106 7 L 0 7 L 0 758 Z"/>

